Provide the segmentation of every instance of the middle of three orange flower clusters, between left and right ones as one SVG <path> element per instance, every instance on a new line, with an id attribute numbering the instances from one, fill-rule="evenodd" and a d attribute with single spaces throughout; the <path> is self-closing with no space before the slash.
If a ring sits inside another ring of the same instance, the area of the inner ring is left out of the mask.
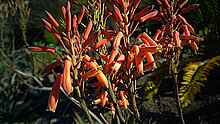
<path id="1" fill-rule="evenodd" d="M 156 64 L 152 54 L 160 51 L 160 46 L 145 32 L 139 35 L 143 41 L 142 44 L 130 41 L 130 37 L 138 25 L 147 19 L 154 19 L 158 12 L 153 6 L 147 6 L 135 13 L 140 2 L 140 0 L 108 1 L 108 7 L 105 10 L 116 24 L 118 31 L 103 29 L 101 34 L 104 38 L 94 45 L 94 50 L 102 51 L 98 55 L 103 61 L 101 65 L 103 73 L 109 77 L 108 81 L 111 82 L 115 96 L 118 96 L 118 103 L 122 104 L 125 109 L 129 105 L 127 96 L 131 92 L 129 91 L 131 80 L 136 80 L 137 76 L 142 75 L 149 68 L 155 69 Z M 103 51 L 102 46 L 109 41 L 111 42 L 111 50 Z M 100 90 L 100 87 L 97 89 Z M 94 103 L 100 103 L 102 106 L 105 103 L 111 105 L 112 103 L 108 102 L 109 99 L 106 90 L 104 90 Z"/>

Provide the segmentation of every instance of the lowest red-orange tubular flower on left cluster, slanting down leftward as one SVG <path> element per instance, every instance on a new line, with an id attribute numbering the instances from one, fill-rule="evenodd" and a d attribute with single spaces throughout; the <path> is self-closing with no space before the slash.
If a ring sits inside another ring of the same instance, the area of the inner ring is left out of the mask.
<path id="1" fill-rule="evenodd" d="M 53 84 L 53 88 L 50 92 L 49 99 L 48 99 L 48 110 L 49 111 L 52 111 L 52 112 L 56 111 L 62 78 L 63 78 L 63 75 L 57 75 L 56 81 Z"/>

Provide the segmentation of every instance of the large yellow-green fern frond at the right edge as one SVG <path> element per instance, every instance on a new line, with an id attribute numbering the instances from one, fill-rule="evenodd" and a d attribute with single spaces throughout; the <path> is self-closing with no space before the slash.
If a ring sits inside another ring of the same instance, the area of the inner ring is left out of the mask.
<path id="1" fill-rule="evenodd" d="M 204 87 L 209 72 L 219 66 L 220 56 L 217 56 L 203 62 L 191 62 L 183 69 L 185 74 L 179 89 L 180 101 L 183 107 L 194 101 L 195 95 L 201 92 L 201 87 Z"/>

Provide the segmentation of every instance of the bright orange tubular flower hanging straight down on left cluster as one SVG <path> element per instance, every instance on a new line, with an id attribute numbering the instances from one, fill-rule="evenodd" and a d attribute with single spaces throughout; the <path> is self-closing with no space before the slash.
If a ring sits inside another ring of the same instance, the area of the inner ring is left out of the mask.
<path id="1" fill-rule="evenodd" d="M 72 78 L 70 76 L 70 68 L 72 66 L 72 61 L 69 59 L 64 60 L 64 68 L 63 68 L 63 89 L 66 94 L 70 94 L 73 91 L 72 86 Z"/>

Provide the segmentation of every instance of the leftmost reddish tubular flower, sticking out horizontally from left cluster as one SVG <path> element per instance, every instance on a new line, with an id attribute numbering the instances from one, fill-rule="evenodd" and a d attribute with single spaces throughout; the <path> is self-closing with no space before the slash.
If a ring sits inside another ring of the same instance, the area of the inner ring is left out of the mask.
<path id="1" fill-rule="evenodd" d="M 44 46 L 30 46 L 28 47 L 33 52 L 49 52 L 49 53 L 56 53 L 55 48 L 49 48 Z"/>

